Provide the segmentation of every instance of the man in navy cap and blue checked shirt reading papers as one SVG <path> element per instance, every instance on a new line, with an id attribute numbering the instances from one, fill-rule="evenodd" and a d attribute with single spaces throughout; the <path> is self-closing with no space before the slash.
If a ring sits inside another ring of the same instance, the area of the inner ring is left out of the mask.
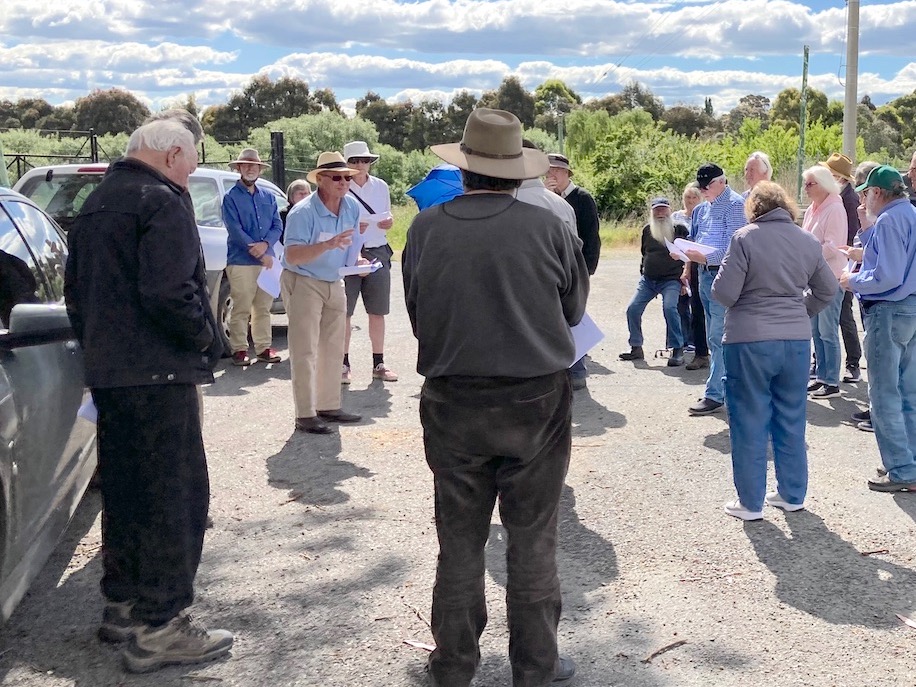
<path id="1" fill-rule="evenodd" d="M 725 361 L 722 357 L 722 332 L 725 327 L 725 306 L 712 298 L 712 282 L 725 257 L 732 234 L 747 224 L 744 216 L 744 199 L 728 185 L 725 170 L 719 165 L 706 163 L 697 170 L 697 184 L 706 203 L 697 206 L 690 219 L 690 239 L 715 248 L 703 255 L 698 250 L 684 254 L 690 262 L 697 263 L 700 272 L 700 300 L 706 313 L 706 340 L 709 344 L 709 378 L 706 391 L 697 403 L 690 406 L 691 415 L 709 415 L 725 402 Z M 683 284 L 690 283 L 690 262 L 684 265 Z"/>

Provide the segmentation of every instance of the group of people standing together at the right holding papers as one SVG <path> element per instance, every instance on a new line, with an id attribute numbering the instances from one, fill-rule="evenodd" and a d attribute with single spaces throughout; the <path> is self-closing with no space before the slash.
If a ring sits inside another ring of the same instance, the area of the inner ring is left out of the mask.
<path id="1" fill-rule="evenodd" d="M 699 348 L 698 328 L 691 327 L 694 361 L 700 361 L 692 369 L 707 365 L 708 349 L 709 376 L 689 412 L 728 408 L 738 499 L 726 512 L 757 520 L 764 502 L 799 510 L 807 488 L 806 401 L 840 394 L 841 331 L 843 381 L 862 378 L 852 306 L 858 299 L 870 408 L 853 419 L 875 432 L 882 459 L 868 486 L 916 490 L 916 207 L 903 176 L 876 162 L 854 168 L 834 153 L 803 172 L 811 202 L 800 218 L 791 198 L 770 181 L 765 153 L 753 153 L 744 172 L 742 195 L 721 167 L 701 166 L 695 185 L 684 191 L 689 214 L 672 213 L 663 197 L 650 202 L 641 276 L 627 308 L 630 350 L 619 357 L 644 358 L 641 319 L 657 295 L 668 365 L 684 364 L 685 321 L 702 321 L 706 348 Z M 908 174 L 916 181 L 916 154 Z M 694 188 L 703 202 L 692 202 Z M 678 237 L 700 245 L 677 251 Z M 702 310 L 690 312 L 697 287 Z M 767 493 L 770 443 L 778 484 Z"/>

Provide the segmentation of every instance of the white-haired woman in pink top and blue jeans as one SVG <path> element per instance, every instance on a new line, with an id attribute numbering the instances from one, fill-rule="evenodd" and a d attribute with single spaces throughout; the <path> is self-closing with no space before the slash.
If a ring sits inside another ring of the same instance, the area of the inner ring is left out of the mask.
<path id="1" fill-rule="evenodd" d="M 846 242 L 846 209 L 840 198 L 840 186 L 830 170 L 821 165 L 802 173 L 805 193 L 811 205 L 805 211 L 802 229 L 820 241 L 824 259 L 839 277 L 846 267 L 846 256 L 838 249 Z M 840 394 L 840 308 L 843 290 L 838 288 L 833 302 L 811 318 L 816 359 L 815 377 L 808 385 L 811 398 L 832 398 Z"/>

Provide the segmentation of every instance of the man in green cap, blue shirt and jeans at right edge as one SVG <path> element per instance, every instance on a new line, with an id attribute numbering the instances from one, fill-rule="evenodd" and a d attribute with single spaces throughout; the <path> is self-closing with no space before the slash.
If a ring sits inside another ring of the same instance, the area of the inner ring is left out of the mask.
<path id="1" fill-rule="evenodd" d="M 883 468 L 873 491 L 916 491 L 916 208 L 893 167 L 873 169 L 856 187 L 874 218 L 862 268 L 840 285 L 862 301 L 868 400 Z"/>

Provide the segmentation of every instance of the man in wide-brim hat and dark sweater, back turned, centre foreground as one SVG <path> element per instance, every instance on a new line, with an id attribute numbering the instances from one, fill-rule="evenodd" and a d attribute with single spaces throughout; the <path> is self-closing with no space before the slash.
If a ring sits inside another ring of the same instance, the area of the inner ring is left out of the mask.
<path id="1" fill-rule="evenodd" d="M 420 420 L 440 547 L 430 681 L 474 676 L 498 497 L 513 684 L 569 684 L 575 667 L 557 652 L 557 512 L 571 445 L 570 326 L 585 311 L 588 269 L 562 220 L 514 197 L 547 171 L 543 153 L 523 149 L 515 115 L 474 110 L 460 143 L 431 149 L 461 168 L 465 194 L 417 215 L 401 268 L 426 377 Z"/>

